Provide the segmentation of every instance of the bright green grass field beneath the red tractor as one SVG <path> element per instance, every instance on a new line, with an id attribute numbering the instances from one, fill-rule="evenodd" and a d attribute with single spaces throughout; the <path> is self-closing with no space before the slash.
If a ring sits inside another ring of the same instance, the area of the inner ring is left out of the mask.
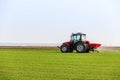
<path id="1" fill-rule="evenodd" d="M 120 80 L 120 51 L 0 49 L 0 80 Z"/>

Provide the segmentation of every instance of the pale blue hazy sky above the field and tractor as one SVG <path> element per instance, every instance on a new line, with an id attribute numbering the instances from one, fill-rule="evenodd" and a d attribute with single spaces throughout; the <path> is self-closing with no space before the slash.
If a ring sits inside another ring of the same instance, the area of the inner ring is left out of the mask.
<path id="1" fill-rule="evenodd" d="M 0 43 L 60 43 L 72 32 L 120 46 L 120 0 L 0 0 Z"/>

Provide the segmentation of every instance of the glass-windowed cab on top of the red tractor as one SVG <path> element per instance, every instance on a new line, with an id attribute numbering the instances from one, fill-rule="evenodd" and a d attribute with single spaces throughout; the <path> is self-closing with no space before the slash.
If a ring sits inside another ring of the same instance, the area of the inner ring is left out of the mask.
<path id="1" fill-rule="evenodd" d="M 71 35 L 71 42 L 77 43 L 78 41 L 85 41 L 86 40 L 86 34 L 83 33 L 76 33 Z"/>

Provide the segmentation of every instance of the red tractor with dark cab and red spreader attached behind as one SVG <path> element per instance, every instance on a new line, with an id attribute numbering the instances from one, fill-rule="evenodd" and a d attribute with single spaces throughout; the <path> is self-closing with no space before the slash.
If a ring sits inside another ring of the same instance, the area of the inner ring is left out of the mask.
<path id="1" fill-rule="evenodd" d="M 73 52 L 73 50 L 76 50 L 76 52 L 78 53 L 87 53 L 89 51 L 97 51 L 96 49 L 101 46 L 101 44 L 90 43 L 85 39 L 86 34 L 72 34 L 70 41 L 62 43 L 62 45 L 60 46 L 60 50 L 62 53 Z"/>

